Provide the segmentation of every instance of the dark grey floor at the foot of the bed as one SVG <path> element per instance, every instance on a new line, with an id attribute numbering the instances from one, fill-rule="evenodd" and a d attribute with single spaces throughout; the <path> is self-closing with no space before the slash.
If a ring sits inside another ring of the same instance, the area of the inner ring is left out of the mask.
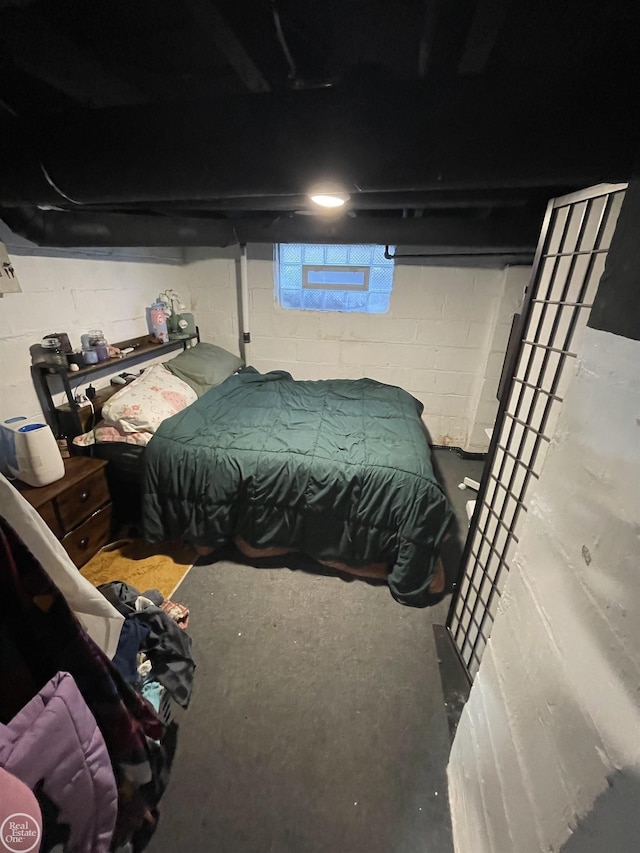
<path id="1" fill-rule="evenodd" d="M 464 514 L 457 483 L 481 466 L 436 457 Z M 174 597 L 196 686 L 151 853 L 452 851 L 431 627 L 448 601 L 230 562 L 194 567 Z"/>

